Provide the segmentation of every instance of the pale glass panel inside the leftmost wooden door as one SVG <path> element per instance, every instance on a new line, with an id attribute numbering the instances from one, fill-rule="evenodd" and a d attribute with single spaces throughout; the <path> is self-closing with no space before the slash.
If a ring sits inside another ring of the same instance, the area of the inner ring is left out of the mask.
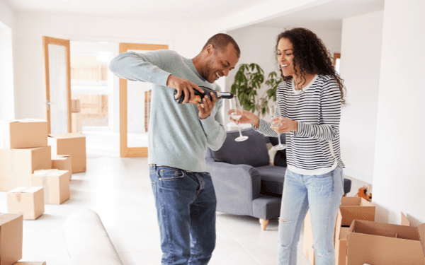
<path id="1" fill-rule="evenodd" d="M 50 134 L 67 134 L 67 61 L 64 46 L 49 45 Z"/>

